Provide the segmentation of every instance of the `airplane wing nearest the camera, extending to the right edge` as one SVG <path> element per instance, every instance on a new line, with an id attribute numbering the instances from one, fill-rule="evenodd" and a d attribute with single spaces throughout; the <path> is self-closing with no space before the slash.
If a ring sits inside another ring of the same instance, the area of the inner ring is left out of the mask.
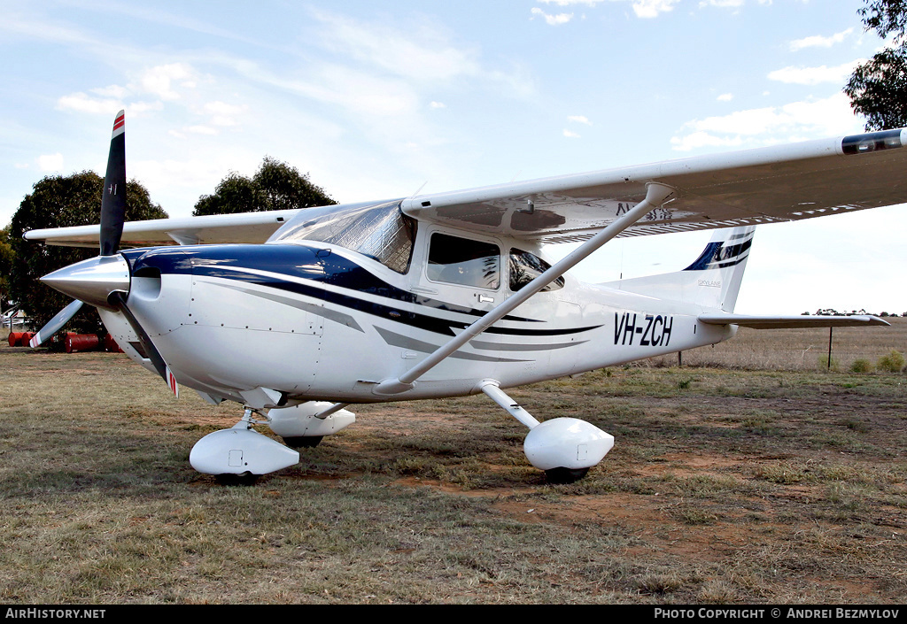
<path id="1" fill-rule="evenodd" d="M 589 239 L 657 182 L 677 192 L 620 236 L 808 219 L 907 202 L 907 130 L 421 195 L 406 214 L 541 242 Z"/>

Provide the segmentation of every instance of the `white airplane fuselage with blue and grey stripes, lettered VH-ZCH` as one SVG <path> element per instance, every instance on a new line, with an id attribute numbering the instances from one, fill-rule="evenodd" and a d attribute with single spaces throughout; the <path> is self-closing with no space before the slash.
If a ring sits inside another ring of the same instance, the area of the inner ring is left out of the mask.
<path id="1" fill-rule="evenodd" d="M 292 401 L 345 403 L 469 395 L 486 379 L 529 384 L 733 335 L 732 327 L 698 323 L 701 307 L 566 275 L 412 390 L 377 395 L 375 385 L 405 373 L 546 268 L 540 250 L 433 225 L 413 232 L 405 262 L 309 239 L 122 255 L 132 271 L 133 314 L 180 385 L 216 400 L 242 402 L 239 392 L 256 387 Z M 150 367 L 122 315 L 99 311 L 124 351 Z"/>

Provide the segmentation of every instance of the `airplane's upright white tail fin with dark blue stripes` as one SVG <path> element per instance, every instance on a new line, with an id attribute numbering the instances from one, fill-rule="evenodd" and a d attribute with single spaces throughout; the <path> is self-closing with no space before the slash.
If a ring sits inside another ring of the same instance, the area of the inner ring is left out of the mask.
<path id="1" fill-rule="evenodd" d="M 706 249 L 682 271 L 603 286 L 733 312 L 755 232 L 756 226 L 716 229 Z"/>

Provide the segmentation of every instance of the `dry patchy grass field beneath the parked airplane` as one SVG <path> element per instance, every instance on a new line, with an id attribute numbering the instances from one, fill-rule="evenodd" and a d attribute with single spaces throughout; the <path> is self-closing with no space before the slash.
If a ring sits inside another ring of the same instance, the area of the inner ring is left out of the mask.
<path id="1" fill-rule="evenodd" d="M 566 486 L 484 396 L 362 406 L 299 465 L 219 486 L 189 451 L 237 405 L 4 342 L 0 602 L 901 603 L 907 376 L 849 372 L 907 351 L 895 320 L 836 329 L 836 371 L 827 330 L 741 330 L 683 367 L 514 390 L 614 434 Z"/>

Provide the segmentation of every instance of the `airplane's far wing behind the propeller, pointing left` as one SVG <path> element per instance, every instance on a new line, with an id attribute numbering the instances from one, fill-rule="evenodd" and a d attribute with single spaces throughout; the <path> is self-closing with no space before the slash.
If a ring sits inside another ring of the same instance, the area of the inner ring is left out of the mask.
<path id="1" fill-rule="evenodd" d="M 178 219 L 130 221 L 123 225 L 121 247 L 160 245 L 198 245 L 206 243 L 263 243 L 299 210 L 271 210 L 239 214 L 206 215 Z M 33 229 L 27 240 L 42 240 L 48 245 L 97 247 L 101 235 L 98 225 L 74 228 Z"/>

